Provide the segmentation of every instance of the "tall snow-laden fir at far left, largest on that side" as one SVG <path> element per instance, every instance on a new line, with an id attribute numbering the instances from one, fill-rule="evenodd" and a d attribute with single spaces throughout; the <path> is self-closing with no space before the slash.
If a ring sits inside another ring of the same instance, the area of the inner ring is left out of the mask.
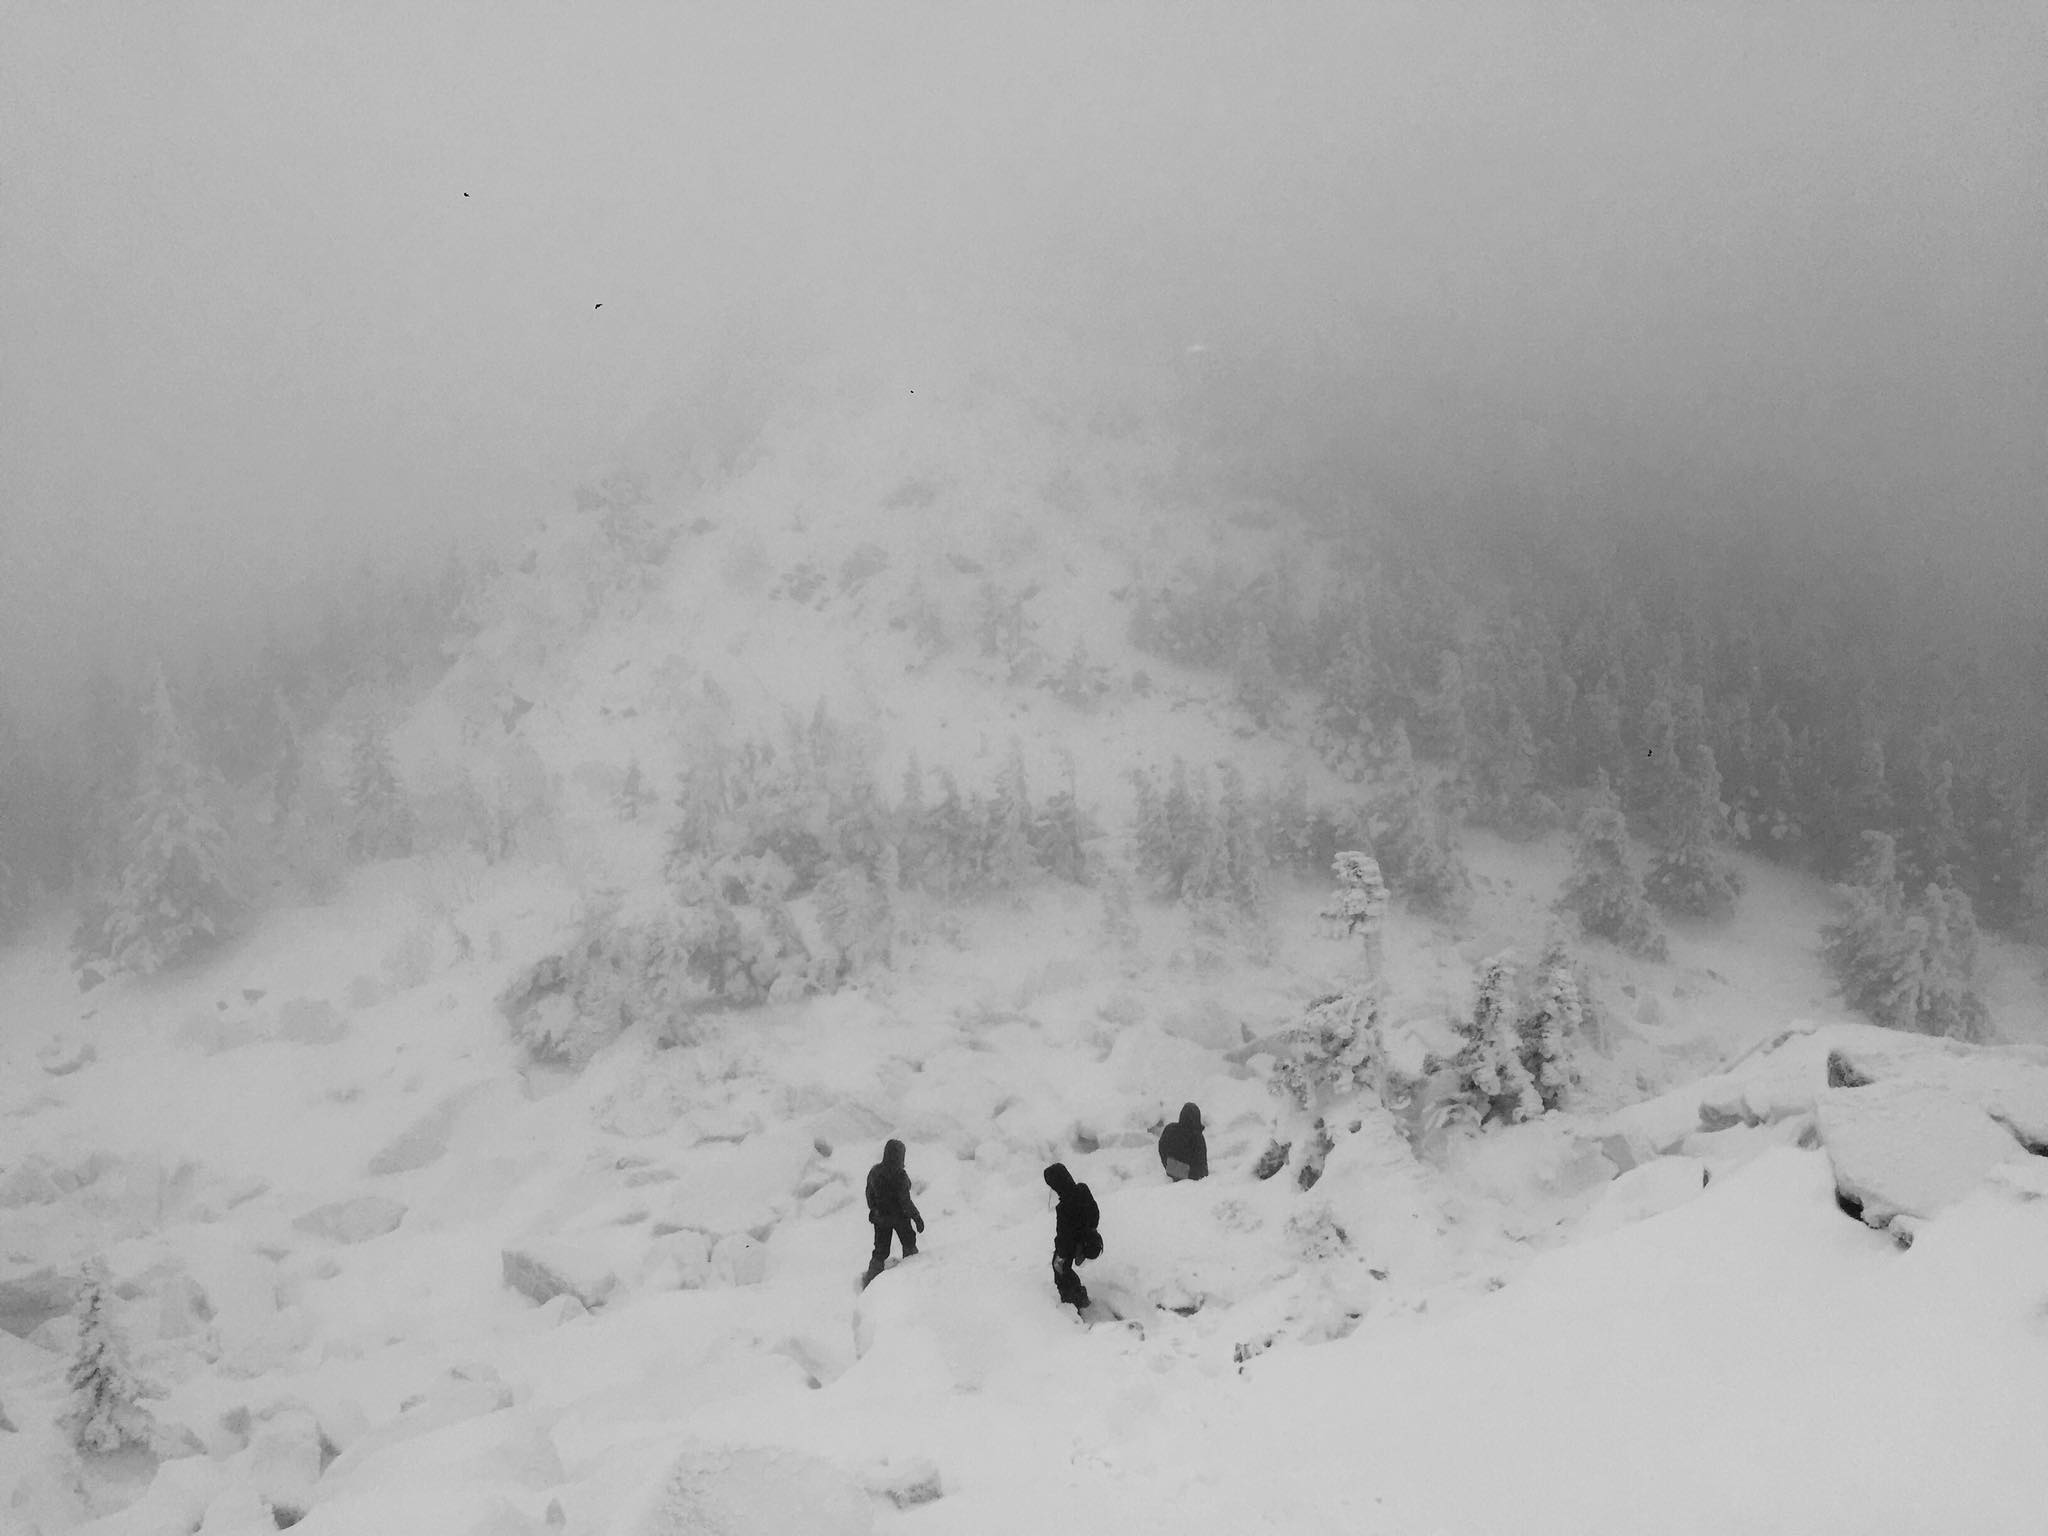
<path id="1" fill-rule="evenodd" d="M 84 903 L 72 936 L 80 975 L 152 975 L 227 936 L 246 895 L 225 805 L 225 786 L 193 758 L 158 672 L 119 872 Z"/>

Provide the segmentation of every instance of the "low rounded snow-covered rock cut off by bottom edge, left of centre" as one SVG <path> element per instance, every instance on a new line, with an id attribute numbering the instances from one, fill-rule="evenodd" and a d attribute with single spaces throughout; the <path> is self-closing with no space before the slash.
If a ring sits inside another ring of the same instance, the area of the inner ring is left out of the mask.
<path id="1" fill-rule="evenodd" d="M 780 1446 L 684 1450 L 616 1536 L 868 1536 L 874 1503 L 831 1462 Z"/>

